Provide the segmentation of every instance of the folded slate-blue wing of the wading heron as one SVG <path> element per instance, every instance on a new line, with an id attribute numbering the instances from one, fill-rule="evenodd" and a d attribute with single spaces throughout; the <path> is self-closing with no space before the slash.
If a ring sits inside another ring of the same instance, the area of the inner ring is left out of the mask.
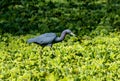
<path id="1" fill-rule="evenodd" d="M 34 40 L 35 40 L 35 43 L 38 43 L 41 45 L 47 45 L 47 44 L 51 44 L 55 38 L 56 38 L 55 33 L 45 33 L 38 37 L 35 37 Z"/>

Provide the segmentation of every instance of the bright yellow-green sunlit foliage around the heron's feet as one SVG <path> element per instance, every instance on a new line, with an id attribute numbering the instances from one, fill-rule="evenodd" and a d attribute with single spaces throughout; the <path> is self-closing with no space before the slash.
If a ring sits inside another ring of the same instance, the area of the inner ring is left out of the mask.
<path id="1" fill-rule="evenodd" d="M 120 33 L 84 36 L 81 41 L 71 37 L 54 44 L 53 51 L 27 44 L 30 37 L 0 35 L 1 81 L 119 80 Z"/>

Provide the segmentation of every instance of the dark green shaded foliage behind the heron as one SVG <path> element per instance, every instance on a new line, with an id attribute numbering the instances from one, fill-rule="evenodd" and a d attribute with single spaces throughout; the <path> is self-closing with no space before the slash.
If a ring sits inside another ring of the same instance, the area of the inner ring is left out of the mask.
<path id="1" fill-rule="evenodd" d="M 99 26 L 120 28 L 119 0 L 2 0 L 0 32 L 26 34 L 62 31 L 89 35 Z"/>

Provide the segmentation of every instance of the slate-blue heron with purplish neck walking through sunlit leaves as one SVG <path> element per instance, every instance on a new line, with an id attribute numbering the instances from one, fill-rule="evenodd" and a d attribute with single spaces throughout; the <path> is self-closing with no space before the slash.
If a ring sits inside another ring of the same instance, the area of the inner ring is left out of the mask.
<path id="1" fill-rule="evenodd" d="M 35 38 L 28 39 L 27 42 L 28 43 L 36 43 L 36 44 L 39 44 L 43 47 L 44 46 L 51 46 L 52 47 L 52 44 L 57 43 L 57 42 L 61 42 L 62 40 L 64 40 L 66 34 L 70 34 L 70 35 L 75 36 L 75 34 L 73 34 L 71 32 L 71 30 L 66 29 L 61 33 L 60 37 L 57 37 L 57 35 L 55 33 L 45 33 L 45 34 L 42 34 L 42 35 L 37 36 Z"/>

